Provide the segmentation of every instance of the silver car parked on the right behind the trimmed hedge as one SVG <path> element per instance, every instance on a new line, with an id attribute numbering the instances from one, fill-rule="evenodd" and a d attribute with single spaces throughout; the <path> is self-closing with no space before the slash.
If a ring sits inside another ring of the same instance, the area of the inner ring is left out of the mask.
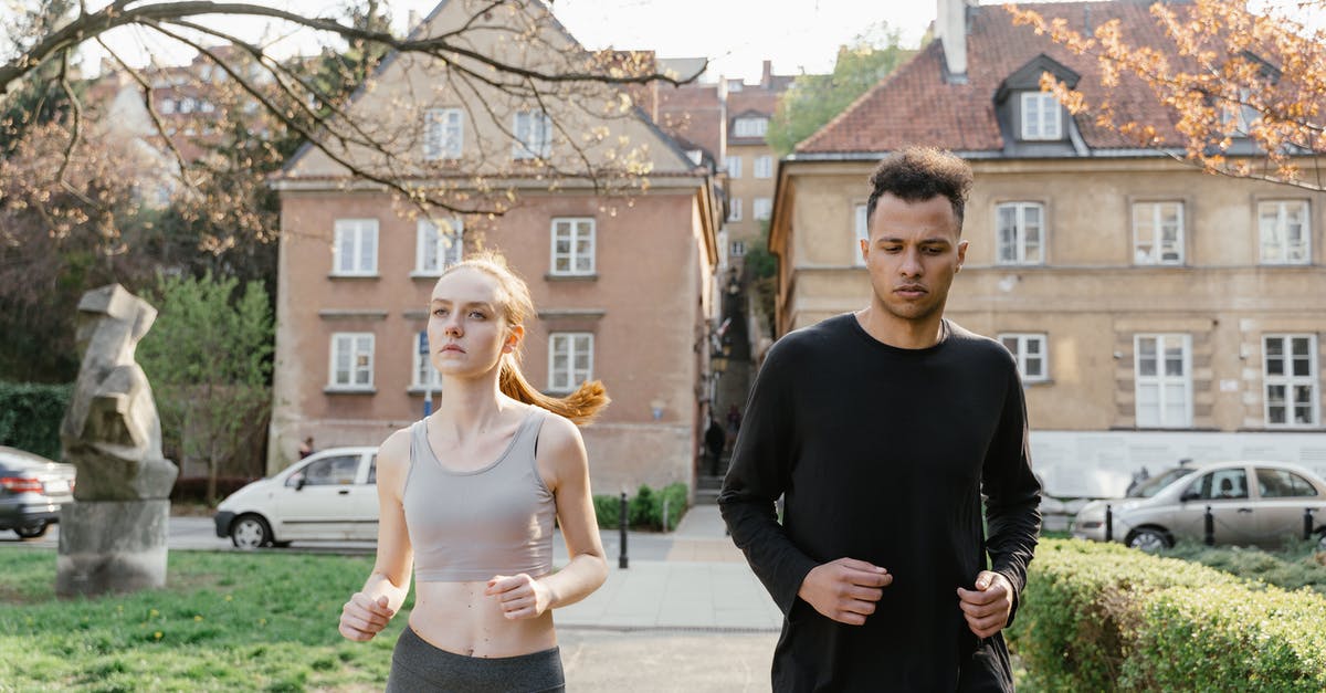
<path id="1" fill-rule="evenodd" d="M 1111 510 L 1111 540 L 1143 551 L 1172 547 L 1177 539 L 1205 539 L 1211 508 L 1217 544 L 1282 547 L 1303 536 L 1311 511 L 1313 534 L 1326 551 L 1326 481 L 1285 462 L 1216 462 L 1183 466 L 1138 485 L 1127 498 L 1082 507 L 1073 536 L 1105 540 L 1105 508 Z"/>

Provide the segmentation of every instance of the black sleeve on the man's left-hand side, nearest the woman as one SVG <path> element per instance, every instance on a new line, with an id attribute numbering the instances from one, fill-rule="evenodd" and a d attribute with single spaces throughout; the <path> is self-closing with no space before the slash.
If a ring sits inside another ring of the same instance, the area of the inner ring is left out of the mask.
<path id="1" fill-rule="evenodd" d="M 788 344 L 776 344 L 756 376 L 732 466 L 719 494 L 719 510 L 732 540 L 784 616 L 796 604 L 806 574 L 817 566 L 792 543 L 774 510 L 797 454 L 790 380 L 794 370 L 788 352 Z"/>

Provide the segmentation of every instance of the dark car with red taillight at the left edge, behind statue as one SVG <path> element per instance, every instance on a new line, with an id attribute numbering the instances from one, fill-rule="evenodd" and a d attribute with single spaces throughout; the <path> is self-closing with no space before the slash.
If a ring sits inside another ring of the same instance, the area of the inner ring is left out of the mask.
<path id="1" fill-rule="evenodd" d="M 60 506 L 73 499 L 73 465 L 0 446 L 0 530 L 41 536 L 60 522 Z"/>

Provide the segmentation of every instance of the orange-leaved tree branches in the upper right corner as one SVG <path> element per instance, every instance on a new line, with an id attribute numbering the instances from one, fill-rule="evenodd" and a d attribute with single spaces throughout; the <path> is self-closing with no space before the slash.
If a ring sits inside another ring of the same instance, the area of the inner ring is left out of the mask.
<path id="1" fill-rule="evenodd" d="M 1309 27 L 1323 25 L 1326 0 L 1290 5 L 1294 9 L 1245 0 L 1156 3 L 1150 12 L 1164 36 L 1159 45 L 1124 36 L 1118 20 L 1085 36 L 1036 9 L 1009 5 L 1008 11 L 1014 24 L 1097 58 L 1105 93 L 1095 100 L 1042 77 L 1042 88 L 1071 113 L 1094 114 L 1099 126 L 1213 174 L 1321 191 L 1326 190 L 1319 158 L 1326 153 L 1326 29 Z M 1170 122 L 1130 116 L 1136 105 L 1120 104 L 1118 96 L 1128 80 L 1150 89 Z"/>

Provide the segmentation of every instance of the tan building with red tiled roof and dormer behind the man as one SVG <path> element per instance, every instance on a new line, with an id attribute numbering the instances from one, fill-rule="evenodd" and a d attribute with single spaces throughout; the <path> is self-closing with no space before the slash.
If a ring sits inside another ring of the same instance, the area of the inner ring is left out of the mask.
<path id="1" fill-rule="evenodd" d="M 1038 9 L 1158 32 L 1134 3 Z M 1326 473 L 1323 195 L 1130 149 L 1040 92 L 1044 72 L 1098 89 L 1083 58 L 1000 7 L 941 0 L 939 17 L 936 41 L 781 162 L 780 335 L 870 300 L 859 239 L 878 161 L 949 149 L 975 186 L 947 315 L 1017 358 L 1050 495 L 1120 494 L 1184 458 Z"/>

